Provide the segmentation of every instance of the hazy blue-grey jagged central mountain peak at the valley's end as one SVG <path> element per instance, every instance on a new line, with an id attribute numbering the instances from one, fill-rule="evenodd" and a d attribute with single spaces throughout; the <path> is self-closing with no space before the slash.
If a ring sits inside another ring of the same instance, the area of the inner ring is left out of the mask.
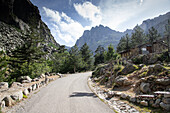
<path id="1" fill-rule="evenodd" d="M 125 35 L 125 33 L 99 25 L 92 27 L 91 30 L 84 31 L 83 36 L 77 40 L 76 45 L 80 48 L 84 43 L 87 43 L 89 48 L 94 52 L 99 45 L 107 48 L 109 44 L 112 44 L 116 47 L 123 35 Z"/>

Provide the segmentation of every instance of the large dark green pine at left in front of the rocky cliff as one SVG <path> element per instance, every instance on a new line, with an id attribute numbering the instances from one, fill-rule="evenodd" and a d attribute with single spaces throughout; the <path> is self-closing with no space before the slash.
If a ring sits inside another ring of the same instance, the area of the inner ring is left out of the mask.
<path id="1" fill-rule="evenodd" d="M 42 46 L 43 39 L 35 33 L 23 37 L 24 44 L 17 47 L 10 55 L 10 64 L 13 67 L 14 73 L 12 78 L 19 76 L 31 76 L 34 63 L 44 63 Z"/>

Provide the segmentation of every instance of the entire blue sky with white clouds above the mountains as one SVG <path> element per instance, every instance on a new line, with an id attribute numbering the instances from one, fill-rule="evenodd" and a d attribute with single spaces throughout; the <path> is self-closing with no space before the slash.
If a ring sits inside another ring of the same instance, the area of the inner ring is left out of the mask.
<path id="1" fill-rule="evenodd" d="M 170 0 L 31 0 L 55 40 L 74 46 L 84 30 L 98 25 L 123 32 L 170 11 Z"/>

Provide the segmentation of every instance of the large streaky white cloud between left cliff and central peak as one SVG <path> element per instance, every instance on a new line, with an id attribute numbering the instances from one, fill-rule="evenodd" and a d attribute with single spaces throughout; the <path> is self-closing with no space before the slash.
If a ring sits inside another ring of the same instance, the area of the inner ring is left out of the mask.
<path id="1" fill-rule="evenodd" d="M 51 10 L 43 7 L 44 16 L 49 18 L 48 24 L 51 26 L 51 33 L 60 44 L 73 46 L 76 40 L 83 34 L 85 28 L 64 12 Z"/>

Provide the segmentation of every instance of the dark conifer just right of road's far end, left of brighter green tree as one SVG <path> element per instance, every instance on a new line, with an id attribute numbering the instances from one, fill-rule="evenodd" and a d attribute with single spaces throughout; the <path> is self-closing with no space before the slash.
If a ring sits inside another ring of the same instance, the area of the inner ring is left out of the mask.
<path id="1" fill-rule="evenodd" d="M 95 51 L 95 55 L 94 55 L 95 62 L 94 62 L 94 65 L 104 63 L 104 53 L 105 53 L 105 49 L 101 45 L 99 45 L 97 47 L 96 51 Z"/>

